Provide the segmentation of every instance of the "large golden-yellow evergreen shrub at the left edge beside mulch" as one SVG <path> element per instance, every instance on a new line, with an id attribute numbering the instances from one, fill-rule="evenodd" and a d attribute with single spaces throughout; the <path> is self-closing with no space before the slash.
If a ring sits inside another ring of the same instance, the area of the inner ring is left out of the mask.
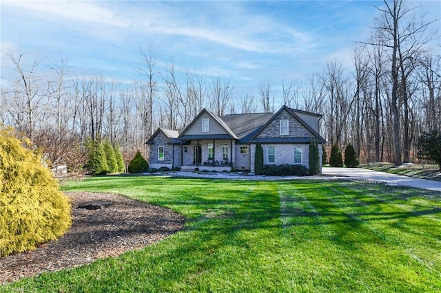
<path id="1" fill-rule="evenodd" d="M 72 224 L 68 197 L 31 146 L 0 127 L 0 257 L 33 250 Z"/>

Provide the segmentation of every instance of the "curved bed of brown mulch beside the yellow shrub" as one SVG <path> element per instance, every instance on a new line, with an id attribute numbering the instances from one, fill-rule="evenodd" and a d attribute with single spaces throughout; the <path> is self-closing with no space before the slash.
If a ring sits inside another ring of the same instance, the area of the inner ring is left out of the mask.
<path id="1" fill-rule="evenodd" d="M 36 250 L 0 258 L 0 284 L 143 248 L 177 232 L 184 224 L 183 215 L 121 195 L 76 192 L 68 193 L 68 197 L 72 200 L 70 230 Z M 76 208 L 96 200 L 112 205 L 98 210 Z"/>

